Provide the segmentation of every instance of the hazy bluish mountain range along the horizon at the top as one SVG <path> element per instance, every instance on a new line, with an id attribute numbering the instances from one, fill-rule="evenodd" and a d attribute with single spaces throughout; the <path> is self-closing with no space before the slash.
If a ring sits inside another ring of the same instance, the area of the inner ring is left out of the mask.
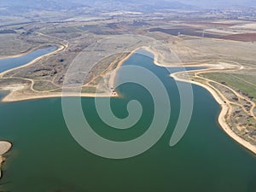
<path id="1" fill-rule="evenodd" d="M 0 7 L 26 9 L 236 9 L 256 8 L 255 0 L 0 0 Z"/>

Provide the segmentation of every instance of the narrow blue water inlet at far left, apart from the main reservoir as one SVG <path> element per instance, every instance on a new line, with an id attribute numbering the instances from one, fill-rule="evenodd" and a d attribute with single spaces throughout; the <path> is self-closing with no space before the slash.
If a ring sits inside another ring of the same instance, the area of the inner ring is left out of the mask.
<path id="1" fill-rule="evenodd" d="M 49 54 L 50 52 L 56 49 L 55 46 L 50 46 L 47 48 L 37 49 L 28 53 L 26 55 L 22 55 L 16 58 L 7 58 L 7 59 L 0 59 L 0 73 L 7 71 L 9 69 L 20 67 L 25 65 L 26 63 L 33 61 L 34 59 L 38 58 L 41 55 Z"/>

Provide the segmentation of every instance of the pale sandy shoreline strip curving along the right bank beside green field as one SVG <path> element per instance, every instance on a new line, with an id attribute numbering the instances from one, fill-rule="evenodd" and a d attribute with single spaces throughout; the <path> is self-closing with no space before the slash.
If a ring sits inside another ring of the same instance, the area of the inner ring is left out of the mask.
<path id="1" fill-rule="evenodd" d="M 201 70 L 196 70 L 196 71 L 201 71 Z M 183 72 L 178 72 L 178 73 L 183 73 Z M 188 79 L 180 79 L 177 77 L 178 73 L 172 73 L 170 76 L 177 80 L 177 81 L 182 81 L 185 83 L 189 83 L 189 84 L 196 84 L 201 86 L 202 88 L 206 89 L 215 99 L 216 102 L 218 102 L 219 106 L 221 107 L 221 111 L 218 114 L 218 124 L 220 125 L 220 127 L 222 128 L 222 130 L 228 135 L 230 136 L 233 140 L 236 141 L 236 143 L 239 143 L 241 146 L 243 146 L 244 148 L 247 148 L 249 151 L 253 152 L 253 154 L 256 154 L 256 146 L 254 146 L 253 144 L 247 142 L 246 140 L 244 140 L 243 138 L 239 137 L 238 135 L 236 135 L 236 133 L 234 131 L 231 130 L 230 125 L 228 125 L 226 123 L 226 119 L 225 119 L 225 115 L 229 112 L 230 107 L 228 104 L 226 104 L 224 102 L 224 100 L 221 98 L 222 96 L 219 96 L 218 93 L 216 92 L 216 90 L 212 89 L 212 87 L 208 86 L 207 84 L 202 84 L 200 82 L 195 82 L 195 81 L 191 81 Z"/>

